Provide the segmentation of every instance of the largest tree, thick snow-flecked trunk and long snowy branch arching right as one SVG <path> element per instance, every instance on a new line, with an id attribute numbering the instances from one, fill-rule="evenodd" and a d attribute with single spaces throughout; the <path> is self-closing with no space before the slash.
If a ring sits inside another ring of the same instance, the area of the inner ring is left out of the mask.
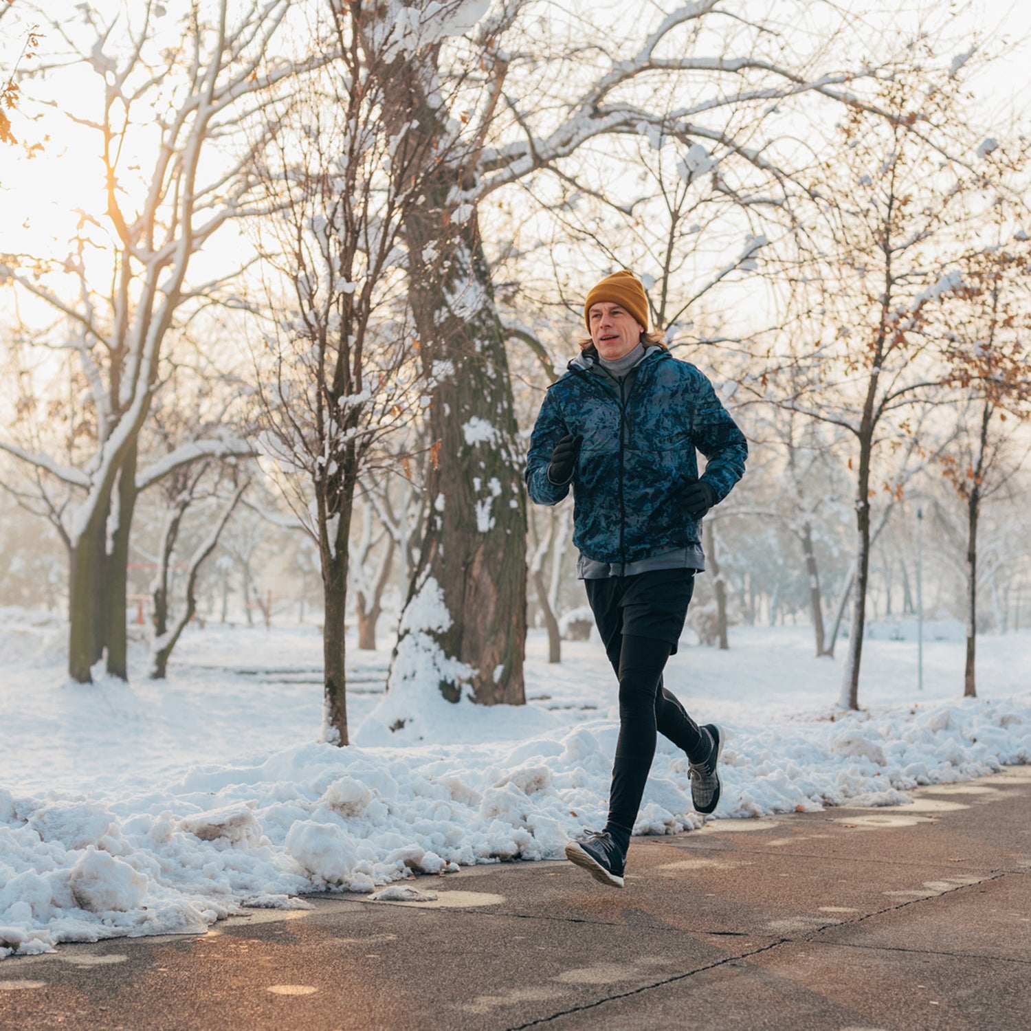
<path id="1" fill-rule="evenodd" d="M 720 141 L 731 156 L 722 169 L 727 182 L 735 163 L 773 169 L 767 141 L 747 140 L 724 117 L 728 110 L 806 92 L 847 100 L 846 84 L 870 73 L 818 69 L 816 55 L 793 53 L 779 32 L 769 31 L 774 20 L 781 27 L 772 8 L 755 14 L 724 6 L 699 0 L 650 11 L 641 31 L 629 35 L 623 18 L 606 31 L 597 20 L 572 15 L 553 27 L 544 53 L 536 8 L 524 0 L 486 16 L 478 0 L 414 0 L 405 4 L 402 28 L 365 11 L 365 38 L 393 34 L 391 131 L 404 129 L 405 154 L 445 155 L 435 159 L 426 202 L 404 234 L 422 357 L 428 366 L 445 362 L 461 370 L 432 392 L 429 425 L 439 461 L 428 491 L 446 495 L 447 503 L 427 523 L 408 593 L 410 607 L 424 591 L 439 592 L 447 629 L 427 631 L 403 620 L 401 634 L 403 640 L 429 632 L 448 659 L 441 669 L 452 676 L 468 670 L 462 675 L 477 701 L 524 700 L 526 632 L 522 448 L 506 330 L 484 250 L 486 199 L 544 169 L 564 169 L 592 140 L 621 135 L 665 134 L 686 146 Z M 389 10 L 395 19 L 396 9 Z M 838 26 L 829 28 L 833 37 Z M 454 39 L 460 32 L 467 35 Z M 726 46 L 710 51 L 721 38 Z M 418 125 L 410 124 L 412 110 Z M 457 697 L 463 683 L 445 677 L 440 688 Z"/>

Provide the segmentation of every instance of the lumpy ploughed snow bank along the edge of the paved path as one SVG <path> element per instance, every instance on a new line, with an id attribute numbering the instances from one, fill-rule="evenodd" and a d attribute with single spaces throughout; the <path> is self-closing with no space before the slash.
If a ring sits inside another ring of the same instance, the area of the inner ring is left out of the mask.
<path id="1" fill-rule="evenodd" d="M 411 871 L 556 857 L 570 835 L 604 819 L 612 713 L 571 728 L 533 706 L 500 714 L 523 740 L 308 743 L 252 765 L 194 767 L 108 804 L 0 790 L 0 953 L 198 932 L 241 906 L 298 904 L 290 896 L 306 891 L 371 892 Z M 525 739 L 542 718 L 551 728 Z M 720 816 L 897 804 L 919 784 L 1031 761 L 1031 698 L 726 730 Z M 700 823 L 687 759 L 662 741 L 635 830 Z"/>

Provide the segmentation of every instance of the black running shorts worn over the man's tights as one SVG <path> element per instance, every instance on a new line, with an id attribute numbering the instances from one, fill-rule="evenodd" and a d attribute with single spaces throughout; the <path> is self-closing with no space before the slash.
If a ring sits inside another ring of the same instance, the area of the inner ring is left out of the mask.
<path id="1" fill-rule="evenodd" d="M 695 590 L 694 569 L 586 579 L 584 587 L 606 652 L 618 634 L 633 634 L 666 641 L 672 645 L 669 654 L 676 654 Z"/>

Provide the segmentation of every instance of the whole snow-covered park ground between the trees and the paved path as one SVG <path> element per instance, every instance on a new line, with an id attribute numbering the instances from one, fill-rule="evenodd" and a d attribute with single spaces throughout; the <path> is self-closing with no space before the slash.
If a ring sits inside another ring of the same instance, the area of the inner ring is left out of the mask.
<path id="1" fill-rule="evenodd" d="M 374 716 L 389 651 L 353 650 L 357 744 L 339 750 L 318 743 L 312 628 L 191 630 L 167 681 L 144 679 L 140 652 L 131 687 L 66 684 L 63 637 L 0 610 L 0 956 L 555 856 L 603 820 L 616 683 L 596 642 L 564 642 L 550 666 L 533 633 L 529 705 L 441 702 L 418 742 Z M 834 712 L 839 665 L 801 627 L 735 628 L 729 652 L 686 640 L 666 684 L 728 732 L 719 816 L 899 804 L 917 784 L 1031 761 L 1031 634 L 979 648 L 985 697 L 963 701 L 961 642 L 925 645 L 922 695 L 914 643 L 867 642 L 860 713 Z M 699 823 L 685 758 L 660 740 L 637 830 Z"/>

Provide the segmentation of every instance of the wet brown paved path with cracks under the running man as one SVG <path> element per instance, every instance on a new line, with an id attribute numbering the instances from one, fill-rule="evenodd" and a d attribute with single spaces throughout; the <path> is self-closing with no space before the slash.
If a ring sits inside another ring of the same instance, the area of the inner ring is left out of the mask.
<path id="1" fill-rule="evenodd" d="M 1031 768 L 0 962 L 0 1028 L 1031 1028 Z"/>

